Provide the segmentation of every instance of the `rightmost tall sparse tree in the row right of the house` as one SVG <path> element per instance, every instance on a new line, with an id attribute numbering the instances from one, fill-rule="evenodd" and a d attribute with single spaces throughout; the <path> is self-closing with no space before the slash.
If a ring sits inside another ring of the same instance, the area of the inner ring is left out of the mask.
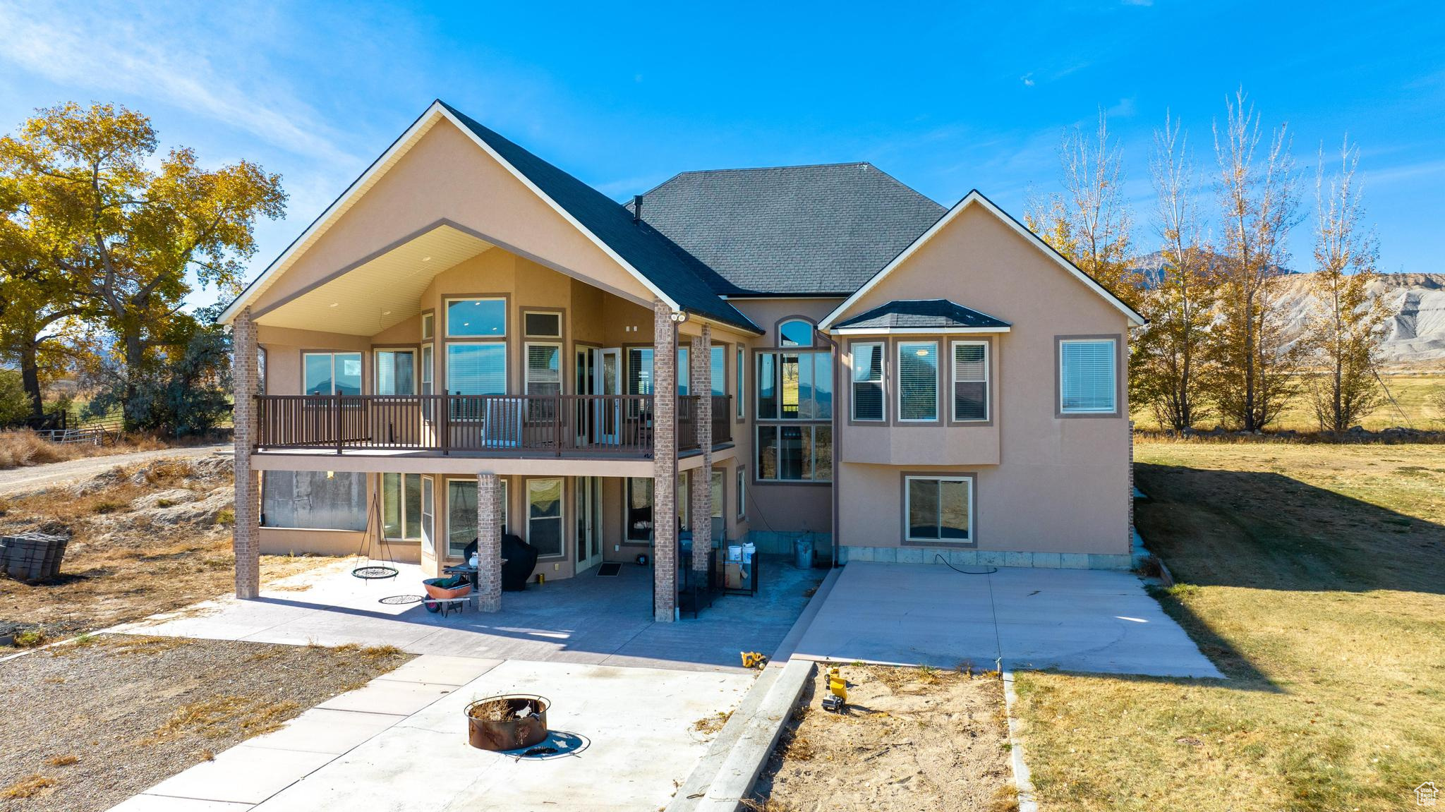
<path id="1" fill-rule="evenodd" d="M 1370 295 L 1380 257 L 1379 238 L 1364 231 L 1364 201 L 1354 182 L 1360 150 L 1348 137 L 1340 149 L 1340 173 L 1325 179 L 1325 153 L 1315 170 L 1315 273 L 1308 327 L 1314 360 L 1324 371 L 1311 377 L 1309 396 L 1319 429 L 1344 432 L 1384 403 L 1376 377 L 1390 314 Z"/>

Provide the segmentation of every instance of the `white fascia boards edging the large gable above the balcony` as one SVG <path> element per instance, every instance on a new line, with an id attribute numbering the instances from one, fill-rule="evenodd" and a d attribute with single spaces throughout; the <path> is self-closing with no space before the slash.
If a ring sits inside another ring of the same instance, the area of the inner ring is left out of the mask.
<path id="1" fill-rule="evenodd" d="M 499 155 L 494 149 L 491 149 L 491 144 L 477 137 L 477 133 L 473 133 L 471 127 L 467 127 L 465 124 L 458 121 L 457 117 L 452 116 L 451 111 L 447 110 L 447 107 L 444 107 L 441 101 L 434 101 L 432 105 L 428 107 L 426 111 L 422 113 L 422 116 L 416 121 L 413 121 L 412 126 L 407 127 L 406 131 L 402 133 L 399 139 L 392 142 L 392 146 L 387 147 L 384 153 L 381 153 L 381 157 L 377 157 L 374 162 L 371 162 L 371 166 L 367 166 L 367 170 L 363 172 L 360 178 L 353 181 L 351 185 L 347 186 L 347 191 L 344 191 L 340 198 L 332 201 L 331 205 L 328 205 L 327 210 L 321 212 L 321 217 L 314 220 L 311 225 L 306 227 L 306 230 L 301 234 L 301 237 L 296 237 L 296 240 L 293 240 L 290 246 L 288 246 L 286 250 L 282 251 L 279 257 L 276 257 L 276 260 L 273 260 L 269 266 L 266 266 L 266 270 L 262 272 L 262 275 L 256 277 L 254 282 L 246 286 L 241 295 L 237 296 L 236 301 L 231 302 L 221 312 L 221 315 L 217 318 L 217 324 L 230 324 L 236 318 L 236 315 L 240 314 L 241 309 L 251 302 L 251 299 L 254 299 L 257 295 L 260 295 L 262 290 L 266 289 L 266 283 L 273 276 L 276 276 L 282 269 L 290 264 L 290 260 L 301 253 L 302 247 L 311 241 L 312 236 L 318 234 L 319 231 L 324 231 L 327 227 L 331 225 L 335 217 L 338 217 L 342 211 L 350 208 L 348 204 L 351 202 L 351 199 L 355 198 L 358 194 L 363 194 L 361 191 L 368 186 L 368 182 L 374 176 L 383 173 L 386 168 L 390 166 L 393 157 L 397 157 L 399 153 L 409 150 L 413 143 L 413 136 L 418 134 L 419 131 L 431 129 L 431 126 L 436 123 L 436 118 L 447 118 L 448 121 L 451 121 L 452 126 L 461 130 L 461 133 L 465 134 L 468 139 L 471 139 L 474 144 L 481 147 L 483 152 L 491 156 L 493 160 L 506 168 L 506 170 L 510 172 L 513 178 L 520 181 L 522 185 L 525 185 L 527 189 L 532 189 L 532 194 L 538 195 L 545 204 L 548 204 L 552 208 L 552 211 L 562 215 L 562 218 L 571 223 L 574 228 L 577 228 L 578 231 L 582 233 L 582 236 L 591 240 L 594 246 L 601 249 L 603 253 L 611 257 L 613 262 L 616 262 L 618 266 L 623 267 L 623 270 L 630 273 L 633 279 L 640 282 L 655 296 L 666 302 L 669 308 L 672 308 L 673 311 L 682 309 L 678 306 L 678 302 L 672 296 L 663 293 L 660 288 L 653 285 L 652 280 L 643 276 L 636 267 L 631 266 L 631 263 L 618 256 L 617 251 L 611 249 L 611 246 L 603 243 L 597 237 L 597 234 L 592 234 L 591 230 L 578 223 L 577 218 L 571 215 L 571 212 L 558 205 L 556 201 L 553 201 L 551 196 L 542 192 L 542 189 L 538 188 L 536 183 L 533 183 L 526 175 L 519 172 L 516 166 L 503 159 L 501 155 Z"/>

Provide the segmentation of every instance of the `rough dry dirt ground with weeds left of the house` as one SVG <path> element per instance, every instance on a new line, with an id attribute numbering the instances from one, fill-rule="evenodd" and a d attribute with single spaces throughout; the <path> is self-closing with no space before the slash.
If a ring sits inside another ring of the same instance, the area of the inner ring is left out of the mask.
<path id="1" fill-rule="evenodd" d="M 0 533 L 69 536 L 61 575 L 0 576 L 0 639 L 43 643 L 175 610 L 233 589 L 233 459 L 114 467 L 90 480 L 0 500 Z M 331 562 L 262 556 L 272 581 Z"/>

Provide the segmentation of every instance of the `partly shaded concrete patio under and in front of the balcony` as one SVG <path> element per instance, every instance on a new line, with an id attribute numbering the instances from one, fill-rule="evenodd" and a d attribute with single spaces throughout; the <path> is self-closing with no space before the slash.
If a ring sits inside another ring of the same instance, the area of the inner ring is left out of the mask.
<path id="1" fill-rule="evenodd" d="M 624 563 L 617 576 L 595 569 L 526 591 L 506 592 L 500 613 L 470 608 L 449 616 L 419 602 L 381 598 L 419 595 L 416 565 L 397 565 L 386 581 L 361 581 L 344 561 L 269 585 L 256 600 L 224 597 L 156 616 L 114 631 L 340 646 L 390 644 L 416 655 L 496 660 L 572 662 L 685 670 L 741 669 L 740 652 L 772 653 L 808 602 L 824 571 L 801 571 L 769 556 L 757 595 L 718 597 L 698 618 L 652 620 L 650 572 Z"/>

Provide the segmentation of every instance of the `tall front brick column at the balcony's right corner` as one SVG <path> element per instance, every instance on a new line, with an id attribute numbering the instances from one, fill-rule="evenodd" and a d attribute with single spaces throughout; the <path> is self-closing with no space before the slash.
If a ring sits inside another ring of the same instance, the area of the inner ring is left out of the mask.
<path id="1" fill-rule="evenodd" d="M 652 530 L 653 620 L 678 607 L 678 334 L 672 308 L 652 303 Z"/>

